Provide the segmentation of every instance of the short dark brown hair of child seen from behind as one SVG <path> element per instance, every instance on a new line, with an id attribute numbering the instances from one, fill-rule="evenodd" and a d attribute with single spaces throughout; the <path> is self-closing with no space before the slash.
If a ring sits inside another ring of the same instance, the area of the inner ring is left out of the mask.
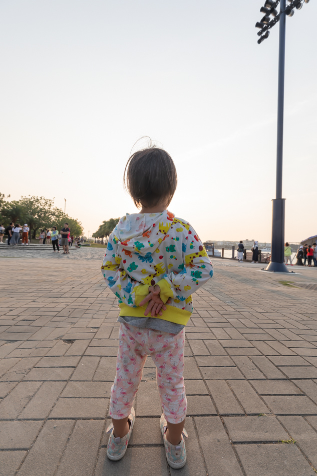
<path id="1" fill-rule="evenodd" d="M 123 183 L 137 207 L 168 205 L 177 186 L 172 157 L 155 145 L 134 152 L 124 170 Z"/>

